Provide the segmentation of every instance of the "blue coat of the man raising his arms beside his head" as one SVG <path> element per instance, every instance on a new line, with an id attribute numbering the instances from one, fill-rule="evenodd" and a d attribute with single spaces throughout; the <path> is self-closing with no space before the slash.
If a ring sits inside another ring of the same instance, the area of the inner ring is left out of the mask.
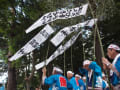
<path id="1" fill-rule="evenodd" d="M 102 71 L 101 67 L 94 61 L 89 65 L 89 68 L 93 70 L 91 78 L 88 77 L 88 71 L 86 69 L 80 68 L 80 73 L 84 74 L 87 77 L 87 85 L 89 87 L 101 87 L 102 88 Z"/>

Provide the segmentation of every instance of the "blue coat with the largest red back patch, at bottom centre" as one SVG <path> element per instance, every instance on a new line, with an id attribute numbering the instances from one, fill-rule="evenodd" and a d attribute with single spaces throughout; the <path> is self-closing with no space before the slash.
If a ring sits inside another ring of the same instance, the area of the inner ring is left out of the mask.
<path id="1" fill-rule="evenodd" d="M 67 88 L 72 88 L 72 85 L 61 74 L 51 75 L 45 78 L 44 84 L 50 85 L 49 90 L 68 90 Z"/>

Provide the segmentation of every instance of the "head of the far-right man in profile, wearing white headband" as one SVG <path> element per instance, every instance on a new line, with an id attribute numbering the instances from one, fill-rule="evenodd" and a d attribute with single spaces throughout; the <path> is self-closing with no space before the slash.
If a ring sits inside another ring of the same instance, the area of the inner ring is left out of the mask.
<path id="1" fill-rule="evenodd" d="M 110 44 L 107 48 L 107 55 L 109 58 L 114 59 L 119 53 L 120 47 L 116 44 Z"/>

